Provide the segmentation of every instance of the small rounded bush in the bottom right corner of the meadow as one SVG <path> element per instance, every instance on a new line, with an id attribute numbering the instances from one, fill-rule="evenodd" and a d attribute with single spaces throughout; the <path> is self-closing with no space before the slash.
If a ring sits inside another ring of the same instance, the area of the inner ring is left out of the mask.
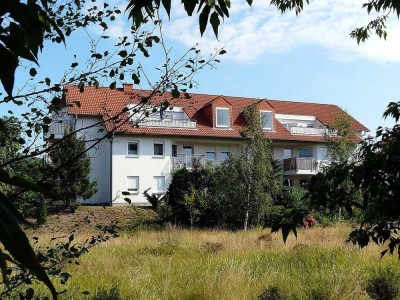
<path id="1" fill-rule="evenodd" d="M 392 300 L 400 296 L 400 276 L 390 268 L 380 268 L 367 280 L 366 292 L 372 299 Z"/>

